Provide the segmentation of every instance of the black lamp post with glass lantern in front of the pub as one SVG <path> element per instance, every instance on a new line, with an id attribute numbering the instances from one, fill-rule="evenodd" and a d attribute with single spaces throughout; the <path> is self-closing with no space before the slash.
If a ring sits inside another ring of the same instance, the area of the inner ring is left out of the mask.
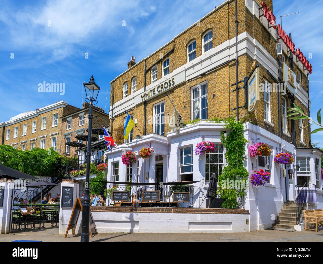
<path id="1" fill-rule="evenodd" d="M 90 182 L 90 161 L 91 161 L 91 137 L 92 137 L 92 119 L 93 119 L 93 108 L 92 105 L 98 103 L 97 97 L 99 94 L 100 87 L 94 82 L 93 75 L 88 83 L 84 83 L 84 89 L 86 93 L 85 101 L 89 103 L 89 133 L 88 133 L 88 149 L 86 152 L 86 179 L 84 198 L 82 203 L 82 231 L 81 231 L 81 242 L 89 242 L 90 240 L 90 194 L 89 194 L 89 182 Z"/>

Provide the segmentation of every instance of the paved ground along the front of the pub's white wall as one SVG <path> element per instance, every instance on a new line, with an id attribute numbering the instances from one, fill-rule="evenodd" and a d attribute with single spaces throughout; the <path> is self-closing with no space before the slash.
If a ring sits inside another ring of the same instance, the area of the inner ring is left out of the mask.
<path id="1" fill-rule="evenodd" d="M 48 242 L 79 242 L 80 235 L 58 235 L 58 228 L 48 227 L 42 230 L 28 232 L 0 234 L 1 242 L 13 240 L 41 240 Z M 163 234 L 163 233 L 108 233 L 98 234 L 93 242 L 124 242 L 124 241 L 221 241 L 221 242 L 323 242 L 323 230 L 318 233 L 313 231 L 280 231 L 280 230 L 258 230 L 244 233 L 214 233 L 214 234 Z"/>

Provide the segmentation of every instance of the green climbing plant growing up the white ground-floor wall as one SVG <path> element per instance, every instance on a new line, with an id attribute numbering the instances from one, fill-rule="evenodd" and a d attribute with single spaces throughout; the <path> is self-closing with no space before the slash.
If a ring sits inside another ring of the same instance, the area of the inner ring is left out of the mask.
<path id="1" fill-rule="evenodd" d="M 217 191 L 221 198 L 224 198 L 223 208 L 236 208 L 238 206 L 237 198 L 244 194 L 243 190 L 221 188 L 222 181 L 230 180 L 248 180 L 248 171 L 244 167 L 245 145 L 248 142 L 243 135 L 243 122 L 236 121 L 234 118 L 224 120 L 225 128 L 230 129 L 230 133 L 225 137 L 224 132 L 221 133 L 221 141 L 226 149 L 225 159 L 226 165 L 223 173 L 219 175 L 219 189 Z"/>

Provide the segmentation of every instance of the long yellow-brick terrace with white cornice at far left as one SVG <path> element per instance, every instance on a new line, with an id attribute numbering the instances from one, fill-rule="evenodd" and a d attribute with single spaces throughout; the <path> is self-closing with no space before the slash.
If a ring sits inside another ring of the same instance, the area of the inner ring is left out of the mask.
<path id="1" fill-rule="evenodd" d="M 64 146 L 61 146 L 62 122 L 59 117 L 78 109 L 68 105 L 66 101 L 59 101 L 12 117 L 9 121 L 0 123 L 1 145 L 22 150 L 54 147 L 62 154 Z"/>

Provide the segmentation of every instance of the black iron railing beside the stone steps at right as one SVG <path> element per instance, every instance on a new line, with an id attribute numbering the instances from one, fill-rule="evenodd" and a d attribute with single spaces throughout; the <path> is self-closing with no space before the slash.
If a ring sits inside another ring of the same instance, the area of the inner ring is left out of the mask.
<path id="1" fill-rule="evenodd" d="M 300 217 L 309 203 L 316 203 L 316 185 L 312 183 L 304 183 L 303 186 L 296 185 L 296 219 L 299 224 Z M 297 193 L 298 192 L 298 193 Z"/>

